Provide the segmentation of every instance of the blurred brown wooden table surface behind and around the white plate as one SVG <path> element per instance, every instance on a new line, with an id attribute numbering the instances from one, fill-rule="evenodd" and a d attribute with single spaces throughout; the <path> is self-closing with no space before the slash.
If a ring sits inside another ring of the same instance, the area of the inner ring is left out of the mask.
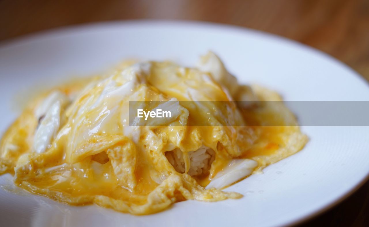
<path id="1" fill-rule="evenodd" d="M 0 41 L 65 25 L 130 19 L 210 21 L 270 32 L 323 50 L 369 80 L 369 0 L 0 0 Z M 304 225 L 369 226 L 368 202 L 366 183 Z"/>

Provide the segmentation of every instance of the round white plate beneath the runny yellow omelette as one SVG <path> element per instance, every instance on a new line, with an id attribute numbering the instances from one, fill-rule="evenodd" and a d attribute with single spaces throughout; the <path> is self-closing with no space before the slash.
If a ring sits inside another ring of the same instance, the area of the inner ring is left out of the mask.
<path id="1" fill-rule="evenodd" d="M 193 65 L 216 52 L 243 83 L 259 83 L 293 101 L 369 99 L 365 81 L 317 50 L 273 35 L 193 22 L 114 22 L 65 28 L 0 47 L 0 132 L 18 115 L 14 97 L 66 77 L 107 69 L 125 58 L 171 59 Z M 41 85 L 40 85 L 41 84 Z M 32 89 L 31 89 L 32 90 Z M 27 97 L 22 97 L 27 99 Z M 21 98 L 21 99 L 22 99 Z M 311 110 L 315 111 L 315 110 Z M 369 127 L 302 127 L 310 142 L 299 153 L 228 188 L 242 199 L 185 201 L 148 216 L 97 206 L 73 207 L 18 190 L 0 178 L 0 222 L 30 226 L 277 226 L 331 207 L 369 173 Z"/>

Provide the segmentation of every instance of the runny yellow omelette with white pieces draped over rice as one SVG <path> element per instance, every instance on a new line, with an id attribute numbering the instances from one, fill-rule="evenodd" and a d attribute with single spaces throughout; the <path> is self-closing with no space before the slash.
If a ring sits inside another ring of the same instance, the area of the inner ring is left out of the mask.
<path id="1" fill-rule="evenodd" d="M 148 125 L 132 101 L 172 114 Z M 307 140 L 276 92 L 239 84 L 208 52 L 193 68 L 128 61 L 39 94 L 1 139 L 0 174 L 59 202 L 142 215 L 241 198 L 222 189 Z"/>

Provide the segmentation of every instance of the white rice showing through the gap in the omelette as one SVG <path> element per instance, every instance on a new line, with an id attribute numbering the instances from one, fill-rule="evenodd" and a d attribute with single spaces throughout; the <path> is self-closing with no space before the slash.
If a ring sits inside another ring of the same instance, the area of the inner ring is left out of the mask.
<path id="1" fill-rule="evenodd" d="M 167 151 L 165 156 L 177 172 L 184 173 L 186 171 L 183 153 L 179 148 Z M 190 151 L 188 156 L 190 158 L 190 168 L 187 174 L 197 176 L 208 173 L 211 163 L 215 159 L 215 152 L 209 147 L 202 146 L 196 151 Z"/>

